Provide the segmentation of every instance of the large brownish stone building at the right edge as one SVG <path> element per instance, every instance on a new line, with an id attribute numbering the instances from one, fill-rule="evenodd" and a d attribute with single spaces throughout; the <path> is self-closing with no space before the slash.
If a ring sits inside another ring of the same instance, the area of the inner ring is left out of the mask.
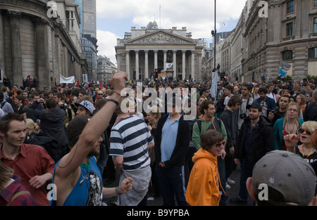
<path id="1" fill-rule="evenodd" d="M 259 16 L 254 1 L 244 26 L 244 80 L 277 79 L 280 60 L 292 67 L 287 72 L 298 81 L 317 75 L 317 1 L 268 1 L 268 18 Z"/>

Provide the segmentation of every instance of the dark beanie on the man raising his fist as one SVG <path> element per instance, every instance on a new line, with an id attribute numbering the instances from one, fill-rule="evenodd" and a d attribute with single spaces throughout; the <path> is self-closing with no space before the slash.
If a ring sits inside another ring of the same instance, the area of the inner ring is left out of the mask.
<path id="1" fill-rule="evenodd" d="M 66 134 L 68 137 L 68 145 L 73 147 L 78 141 L 78 137 L 82 134 L 86 124 L 90 121 L 92 117 L 88 115 L 77 115 L 68 123 L 66 127 Z"/>

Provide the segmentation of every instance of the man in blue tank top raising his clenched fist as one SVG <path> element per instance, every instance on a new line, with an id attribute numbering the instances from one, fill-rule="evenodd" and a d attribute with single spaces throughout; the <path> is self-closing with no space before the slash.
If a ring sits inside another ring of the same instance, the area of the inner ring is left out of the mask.
<path id="1" fill-rule="evenodd" d="M 50 193 L 53 195 L 51 205 L 102 205 L 102 198 L 127 193 L 132 188 L 131 178 L 123 180 L 119 187 L 102 187 L 102 176 L 95 157 L 99 154 L 101 134 L 108 126 L 114 110 L 120 105 L 120 91 L 125 88 L 124 80 L 128 80 L 125 72 L 113 75 L 113 91 L 107 97 L 104 108 L 94 117 L 79 115 L 68 124 L 66 131 L 70 152 L 56 163 L 54 188 Z M 99 183 L 99 186 L 94 186 L 94 183 Z M 95 190 L 98 188 L 100 190 Z"/>

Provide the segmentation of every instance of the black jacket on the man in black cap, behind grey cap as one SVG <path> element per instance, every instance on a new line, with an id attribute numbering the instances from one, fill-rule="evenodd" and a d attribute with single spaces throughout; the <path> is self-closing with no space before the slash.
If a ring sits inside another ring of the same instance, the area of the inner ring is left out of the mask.
<path id="1" fill-rule="evenodd" d="M 267 122 L 264 117 L 259 120 L 259 132 L 256 132 L 251 140 L 249 146 L 249 153 L 245 151 L 244 143 L 247 137 L 247 129 L 251 120 L 249 117 L 244 119 L 239 135 L 237 136 L 237 143 L 235 146 L 234 158 L 240 160 L 248 159 L 248 165 L 253 167 L 261 157 L 266 155 L 271 150 L 274 150 L 274 130 L 271 123 Z"/>

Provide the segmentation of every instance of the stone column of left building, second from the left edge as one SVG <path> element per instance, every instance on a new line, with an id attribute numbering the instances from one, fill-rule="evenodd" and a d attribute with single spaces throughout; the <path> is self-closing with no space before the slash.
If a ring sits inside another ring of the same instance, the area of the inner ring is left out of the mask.
<path id="1" fill-rule="evenodd" d="M 35 36 L 37 44 L 37 77 L 39 78 L 39 87 L 49 86 L 49 68 L 46 65 L 46 58 L 49 56 L 46 54 L 46 34 L 45 25 L 47 21 L 43 18 L 33 18 L 35 23 Z M 64 75 L 65 76 L 65 75 Z M 65 76 L 66 77 L 66 76 Z"/>

